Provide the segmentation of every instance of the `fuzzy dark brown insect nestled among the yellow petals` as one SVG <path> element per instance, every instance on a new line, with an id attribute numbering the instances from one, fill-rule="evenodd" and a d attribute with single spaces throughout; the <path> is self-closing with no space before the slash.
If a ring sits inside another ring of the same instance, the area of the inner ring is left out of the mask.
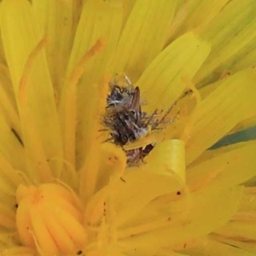
<path id="1" fill-rule="evenodd" d="M 107 98 L 104 123 L 112 131 L 113 143 L 123 147 L 148 134 L 148 115 L 141 110 L 140 90 L 125 76 L 126 87 L 113 84 Z M 149 153 L 149 152 L 148 152 Z M 147 155 L 143 148 L 125 150 L 128 164 L 137 163 Z"/>

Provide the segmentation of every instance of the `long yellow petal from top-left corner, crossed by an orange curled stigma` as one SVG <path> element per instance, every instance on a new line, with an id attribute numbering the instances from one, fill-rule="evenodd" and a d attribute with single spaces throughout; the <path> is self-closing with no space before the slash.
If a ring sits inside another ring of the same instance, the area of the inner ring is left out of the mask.
<path id="1" fill-rule="evenodd" d="M 62 150 L 60 129 L 44 51 L 38 52 L 38 55 L 31 60 L 32 63 L 28 65 L 30 67 L 27 70 L 25 68 L 29 55 L 42 39 L 38 37 L 37 22 L 30 3 L 26 0 L 3 1 L 1 4 L 1 32 L 16 100 L 19 100 L 20 79 L 22 76 L 26 76 L 26 91 L 24 92 L 27 98 L 26 107 L 31 113 L 35 130 L 43 144 L 46 155 L 44 161 L 51 157 L 60 157 Z M 22 107 L 20 105 L 18 107 L 21 111 Z M 29 136 L 26 132 L 26 124 L 24 125 L 22 130 L 26 143 Z M 53 165 L 56 172 L 57 168 L 56 165 Z"/>

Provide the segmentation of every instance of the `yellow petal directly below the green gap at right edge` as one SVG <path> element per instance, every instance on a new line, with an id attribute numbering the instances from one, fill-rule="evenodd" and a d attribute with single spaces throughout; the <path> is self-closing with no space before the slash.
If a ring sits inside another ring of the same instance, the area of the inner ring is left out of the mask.
<path id="1" fill-rule="evenodd" d="M 256 143 L 251 142 L 206 152 L 187 170 L 190 189 L 198 189 L 207 183 L 229 188 L 246 182 L 255 176 L 255 151 Z"/>

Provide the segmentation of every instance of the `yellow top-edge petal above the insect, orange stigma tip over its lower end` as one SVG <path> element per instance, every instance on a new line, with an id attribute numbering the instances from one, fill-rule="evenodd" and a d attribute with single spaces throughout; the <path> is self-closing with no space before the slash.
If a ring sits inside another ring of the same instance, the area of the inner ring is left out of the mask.
<path id="1" fill-rule="evenodd" d="M 83 83 L 85 84 L 83 88 L 88 87 L 91 81 L 98 82 L 102 78 L 119 39 L 121 20 L 122 6 L 118 0 L 88 0 L 84 3 L 68 63 L 67 78 L 78 65 L 84 53 L 99 38 L 104 38 L 107 41 L 105 49 L 100 55 L 97 55 L 96 60 L 92 61 L 84 71 Z"/>

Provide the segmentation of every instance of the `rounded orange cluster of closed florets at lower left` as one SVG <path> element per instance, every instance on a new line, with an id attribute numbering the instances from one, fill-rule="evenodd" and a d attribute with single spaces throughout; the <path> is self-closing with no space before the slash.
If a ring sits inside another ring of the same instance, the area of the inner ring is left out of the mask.
<path id="1" fill-rule="evenodd" d="M 55 183 L 20 185 L 16 193 L 20 241 L 43 255 L 76 253 L 87 243 L 79 200 Z"/>

